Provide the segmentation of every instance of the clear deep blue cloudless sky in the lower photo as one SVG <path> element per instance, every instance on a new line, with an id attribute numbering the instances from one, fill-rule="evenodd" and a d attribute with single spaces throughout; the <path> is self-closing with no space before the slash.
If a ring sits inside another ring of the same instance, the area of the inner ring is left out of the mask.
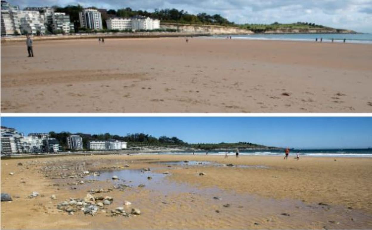
<path id="1" fill-rule="evenodd" d="M 189 143 L 252 142 L 291 148 L 372 147 L 372 117 L 1 117 L 29 132 L 147 133 Z"/>

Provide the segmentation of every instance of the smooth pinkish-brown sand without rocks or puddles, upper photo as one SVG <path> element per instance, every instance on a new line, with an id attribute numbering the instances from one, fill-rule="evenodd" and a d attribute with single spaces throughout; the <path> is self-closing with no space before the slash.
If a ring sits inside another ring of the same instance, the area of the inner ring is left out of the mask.
<path id="1" fill-rule="evenodd" d="M 1 44 L 2 112 L 372 112 L 372 45 L 194 38 Z"/>

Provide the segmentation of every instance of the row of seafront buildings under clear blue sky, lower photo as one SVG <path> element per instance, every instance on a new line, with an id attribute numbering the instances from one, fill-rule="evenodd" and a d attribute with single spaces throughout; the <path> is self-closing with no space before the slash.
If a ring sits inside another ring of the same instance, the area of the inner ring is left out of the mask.
<path id="1" fill-rule="evenodd" d="M 83 150 L 83 138 L 79 135 L 70 135 L 66 138 L 67 148 L 70 150 Z M 127 143 L 117 140 L 89 141 L 89 150 L 121 150 L 127 148 Z M 16 129 L 1 126 L 1 154 L 15 153 L 41 153 L 61 152 L 62 146 L 56 138 L 49 137 L 48 133 L 29 133 L 24 136 Z"/>

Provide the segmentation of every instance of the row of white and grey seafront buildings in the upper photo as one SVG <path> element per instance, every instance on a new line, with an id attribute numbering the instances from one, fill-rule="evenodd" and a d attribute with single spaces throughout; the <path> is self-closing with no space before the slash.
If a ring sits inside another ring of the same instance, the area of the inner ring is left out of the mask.
<path id="1" fill-rule="evenodd" d="M 87 8 L 79 12 L 81 28 L 102 30 L 102 19 L 106 20 L 108 29 L 132 31 L 160 29 L 160 20 L 157 19 L 117 18 L 115 15 L 107 15 L 106 9 Z M 69 15 L 54 12 L 51 7 L 26 7 L 25 10 L 20 10 L 19 6 L 12 6 L 7 1 L 1 0 L 2 36 L 26 33 L 44 35 L 46 30 L 63 31 L 68 34 L 74 32 L 75 28 Z"/>

